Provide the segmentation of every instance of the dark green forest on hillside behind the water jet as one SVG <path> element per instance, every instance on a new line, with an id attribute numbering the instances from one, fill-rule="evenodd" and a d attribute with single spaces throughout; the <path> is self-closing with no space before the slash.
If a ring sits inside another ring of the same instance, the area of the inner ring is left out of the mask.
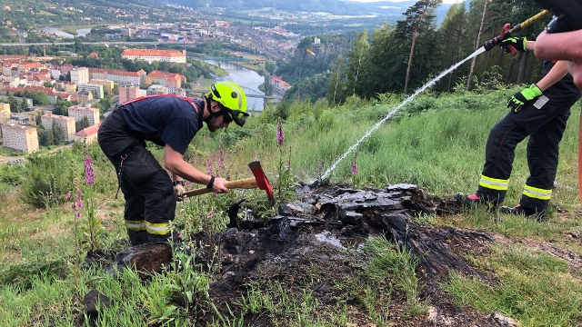
<path id="1" fill-rule="evenodd" d="M 471 0 L 451 5 L 443 23 L 437 25 L 434 13 L 440 4 L 440 0 L 417 1 L 396 25 L 385 24 L 359 35 L 319 35 L 318 45 L 313 36 L 306 37 L 297 45 L 295 59 L 279 63 L 276 70 L 277 75 L 294 85 L 286 98 L 316 101 L 325 94 L 330 103 L 340 104 L 352 94 L 364 98 L 385 93 L 411 94 L 500 35 L 503 25 L 517 25 L 541 11 L 526 0 L 493 0 L 487 5 L 485 0 Z M 547 15 L 514 36 L 534 40 L 550 18 Z M 471 64 L 469 60 L 459 66 L 433 90 L 498 89 L 507 84 L 535 83 L 542 73 L 542 62 L 533 54 L 507 54 L 497 46 L 476 57 L 471 84 L 467 85 Z"/>

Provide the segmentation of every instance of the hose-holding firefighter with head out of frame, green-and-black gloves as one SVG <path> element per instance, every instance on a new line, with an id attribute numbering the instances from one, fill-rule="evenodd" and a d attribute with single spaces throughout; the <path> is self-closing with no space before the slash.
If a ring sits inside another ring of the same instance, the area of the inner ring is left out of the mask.
<path id="1" fill-rule="evenodd" d="M 510 46 L 521 52 L 532 51 L 535 41 L 512 37 L 501 46 L 507 52 Z M 546 219 L 556 178 L 559 143 L 570 116 L 570 107 L 581 93 L 572 76 L 567 74 L 567 62 L 545 61 L 543 64 L 542 79 L 513 95 L 507 103 L 511 111 L 491 129 L 477 192 L 471 195 L 457 193 L 457 203 L 466 207 L 486 204 L 490 210 L 496 210 L 507 193 L 516 146 L 529 136 L 529 177 L 521 201 L 515 207 L 502 206 L 499 212 L 523 214 L 538 221 Z"/>

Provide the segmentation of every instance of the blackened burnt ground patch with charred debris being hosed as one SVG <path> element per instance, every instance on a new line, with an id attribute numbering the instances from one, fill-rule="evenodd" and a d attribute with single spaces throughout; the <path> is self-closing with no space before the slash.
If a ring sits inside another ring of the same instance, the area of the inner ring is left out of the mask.
<path id="1" fill-rule="evenodd" d="M 349 321 L 357 326 L 378 321 L 393 326 L 513 325 L 500 314 L 457 308 L 442 290 L 441 282 L 451 271 L 491 278 L 467 263 L 464 255 L 485 253 L 496 241 L 491 233 L 416 220 L 423 214 L 459 213 L 451 199 L 429 197 L 410 184 L 367 190 L 345 185 L 305 186 L 297 195 L 299 201 L 281 205 L 280 214 L 268 221 L 231 215 L 226 233 L 193 235 L 198 249 L 216 246 L 220 261 L 209 291 L 216 309 L 203 304 L 199 322 L 216 322 L 220 315 L 244 317 L 248 326 L 287 325 L 297 312 L 273 310 L 266 304 L 249 309 L 249 298 L 269 294 L 270 301 L 283 306 L 289 305 L 286 297 L 303 303 L 316 301 L 318 309 L 313 314 L 322 318 L 326 312 L 344 308 Z M 236 212 L 231 208 L 231 214 Z M 366 265 L 371 258 L 363 244 L 375 236 L 386 237 L 416 258 L 418 300 L 426 308 L 421 314 L 410 312 L 406 290 L 392 286 L 389 278 L 367 280 Z M 199 254 L 198 262 L 210 260 L 213 254 Z M 369 292 L 376 292 L 376 302 L 366 301 Z M 307 309 L 299 306 L 296 310 Z M 326 321 L 333 322 L 333 318 L 326 317 Z"/>

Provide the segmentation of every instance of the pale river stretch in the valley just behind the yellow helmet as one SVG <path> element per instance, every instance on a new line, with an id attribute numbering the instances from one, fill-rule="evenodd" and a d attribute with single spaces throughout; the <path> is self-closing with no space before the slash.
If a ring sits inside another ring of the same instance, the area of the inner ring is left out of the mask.
<path id="1" fill-rule="evenodd" d="M 217 81 L 235 82 L 236 84 L 239 84 L 245 87 L 246 89 L 251 89 L 253 91 L 253 94 L 264 94 L 262 91 L 258 89 L 258 85 L 263 84 L 265 82 L 265 77 L 261 76 L 255 71 L 231 62 L 217 60 L 205 60 L 204 62 L 207 64 L 220 65 L 222 69 L 226 70 L 228 75 L 225 77 L 219 76 L 216 79 Z M 263 101 L 264 101 L 263 98 L 247 96 L 246 102 L 248 104 L 248 110 L 263 111 L 264 109 Z"/>

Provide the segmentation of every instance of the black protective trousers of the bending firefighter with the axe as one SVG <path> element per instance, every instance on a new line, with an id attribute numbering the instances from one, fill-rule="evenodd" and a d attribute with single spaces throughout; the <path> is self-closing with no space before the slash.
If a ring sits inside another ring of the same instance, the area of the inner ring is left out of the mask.
<path id="1" fill-rule="evenodd" d="M 97 140 L 124 193 L 125 226 L 132 245 L 166 242 L 176 214 L 176 195 L 166 170 L 147 151 L 141 134 L 127 128 L 119 108 L 105 118 Z"/>

